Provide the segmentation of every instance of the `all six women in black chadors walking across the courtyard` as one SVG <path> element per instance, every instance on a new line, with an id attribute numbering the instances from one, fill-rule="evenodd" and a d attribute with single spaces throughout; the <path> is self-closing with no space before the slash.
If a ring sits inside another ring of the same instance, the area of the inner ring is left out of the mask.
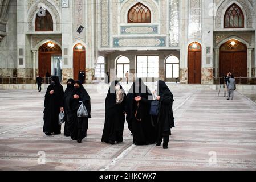
<path id="1" fill-rule="evenodd" d="M 153 97 L 159 100 L 159 114 L 149 114 Z M 113 81 L 105 98 L 105 123 L 101 142 L 115 144 L 123 142 L 125 115 L 128 129 L 132 133 L 133 144 L 147 145 L 156 143 L 168 148 L 170 129 L 174 127 L 172 111 L 173 94 L 164 81 L 157 81 L 155 92 L 151 93 L 141 78 L 133 82 L 126 94 L 118 81 Z M 80 104 L 86 106 L 88 117 L 78 117 Z M 58 77 L 51 77 L 44 101 L 44 127 L 46 135 L 60 134 L 58 116 L 65 112 L 64 135 L 82 142 L 87 135 L 88 119 L 91 118 L 90 96 L 80 81 L 69 79 L 65 93 Z"/>

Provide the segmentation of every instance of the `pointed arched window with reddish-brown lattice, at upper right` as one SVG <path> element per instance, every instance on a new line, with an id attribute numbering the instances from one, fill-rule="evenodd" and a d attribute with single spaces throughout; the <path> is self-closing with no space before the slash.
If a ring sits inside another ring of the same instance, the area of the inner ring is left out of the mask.
<path id="1" fill-rule="evenodd" d="M 235 3 L 225 13 L 224 28 L 244 28 L 243 11 Z"/>

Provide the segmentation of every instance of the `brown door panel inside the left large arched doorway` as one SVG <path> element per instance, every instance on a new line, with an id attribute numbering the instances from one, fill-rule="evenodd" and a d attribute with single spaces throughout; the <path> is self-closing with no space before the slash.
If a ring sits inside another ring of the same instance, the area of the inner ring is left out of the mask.
<path id="1" fill-rule="evenodd" d="M 39 75 L 45 77 L 46 73 L 51 75 L 51 54 L 39 53 Z"/>

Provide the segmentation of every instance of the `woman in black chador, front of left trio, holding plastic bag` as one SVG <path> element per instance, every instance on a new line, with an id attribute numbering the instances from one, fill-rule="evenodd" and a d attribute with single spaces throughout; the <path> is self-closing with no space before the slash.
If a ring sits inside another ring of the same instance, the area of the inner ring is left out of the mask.
<path id="1" fill-rule="evenodd" d="M 88 117 L 78 117 L 77 111 L 82 104 L 86 106 Z M 91 98 L 80 81 L 75 81 L 74 90 L 68 95 L 68 130 L 72 140 L 81 143 L 87 135 L 88 119 L 91 118 Z"/>

